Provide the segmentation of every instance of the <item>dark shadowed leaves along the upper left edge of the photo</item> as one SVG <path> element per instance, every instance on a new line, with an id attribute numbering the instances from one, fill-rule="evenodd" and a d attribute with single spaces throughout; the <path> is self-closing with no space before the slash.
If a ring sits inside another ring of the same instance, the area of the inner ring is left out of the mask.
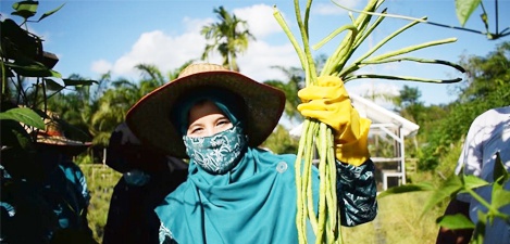
<path id="1" fill-rule="evenodd" d="M 38 23 L 54 14 L 62 7 L 43 13 L 37 21 L 32 18 L 37 14 L 39 2 L 20 1 L 13 3 L 11 14 L 22 17 L 21 24 L 11 18 L 0 22 L 0 75 L 1 75 L 1 119 L 23 123 L 2 124 L 2 137 L 16 140 L 2 141 L 2 155 L 28 150 L 35 140 L 34 134 L 43 129 L 42 118 L 48 111 L 48 99 L 63 91 L 67 87 L 90 86 L 94 80 L 62 78 L 53 70 L 59 59 L 43 50 L 42 38 L 28 30 L 27 23 Z M 20 107 L 24 107 L 20 110 Z M 28 118 L 28 119 L 27 119 Z M 28 129 L 34 134 L 24 131 Z M 14 136 L 13 136 L 14 134 Z M 17 146 L 17 147 L 16 147 Z M 28 152 L 27 151 L 27 152 Z M 22 155 L 22 154 L 20 154 Z M 21 159 L 21 158 L 20 158 Z"/>

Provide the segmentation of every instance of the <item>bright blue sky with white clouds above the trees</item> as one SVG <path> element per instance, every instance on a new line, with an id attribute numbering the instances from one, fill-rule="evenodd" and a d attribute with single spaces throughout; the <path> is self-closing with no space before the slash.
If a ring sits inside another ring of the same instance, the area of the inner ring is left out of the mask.
<path id="1" fill-rule="evenodd" d="M 366 3 L 366 0 L 337 1 L 353 9 L 362 9 Z M 0 2 L 2 17 L 10 17 L 13 2 Z M 284 74 L 271 66 L 300 67 L 290 41 L 273 17 L 273 5 L 276 5 L 294 35 L 300 38 L 293 0 L 42 0 L 39 1 L 39 15 L 64 2 L 65 5 L 58 13 L 30 25 L 34 33 L 43 37 L 45 50 L 59 56 L 60 61 L 54 69 L 63 77 L 79 74 L 98 79 L 110 70 L 113 78 L 137 80 L 140 74 L 134 66 L 140 63 L 157 65 L 163 73 L 173 70 L 186 61 L 200 57 L 206 46 L 200 28 L 217 20 L 213 9 L 220 5 L 247 21 L 250 31 L 257 38 L 238 59 L 244 74 L 260 81 L 284 79 Z M 490 24 L 495 23 L 493 3 L 494 1 L 484 1 Z M 387 7 L 388 13 L 391 14 L 427 16 L 431 22 L 460 25 L 455 14 L 455 0 L 387 0 L 384 7 Z M 510 15 L 506 14 L 510 10 L 510 0 L 499 0 L 499 29 L 503 29 L 510 24 Z M 329 0 L 314 0 L 311 10 L 312 44 L 349 23 L 347 11 Z M 475 11 L 465 27 L 482 30 L 478 14 L 480 10 Z M 20 21 L 16 16 L 12 18 Z M 408 23 L 409 21 L 405 20 L 386 18 L 362 44 L 359 53 Z M 490 26 L 490 30 L 494 31 L 495 26 Z M 508 37 L 496 41 L 487 40 L 485 36 L 477 34 L 419 24 L 388 42 L 378 53 L 450 37 L 458 40 L 415 52 L 413 56 L 458 62 L 461 55 L 485 56 L 495 50 L 497 43 L 509 40 Z M 339 41 L 340 38 L 332 40 L 314 54 L 329 55 Z M 210 61 L 220 62 L 220 56 L 215 55 Z M 399 63 L 362 70 L 427 78 L 465 78 L 452 68 L 438 65 Z M 418 87 L 422 92 L 421 100 L 425 104 L 444 104 L 456 99 L 451 92 L 457 85 L 360 79 L 346 86 L 349 92 L 365 95 L 372 92 L 398 94 L 403 85 Z"/>

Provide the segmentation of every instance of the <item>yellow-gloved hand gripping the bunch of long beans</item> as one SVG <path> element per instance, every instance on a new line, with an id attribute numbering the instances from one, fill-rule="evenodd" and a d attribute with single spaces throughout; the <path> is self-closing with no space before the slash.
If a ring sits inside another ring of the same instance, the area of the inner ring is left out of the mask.
<path id="1" fill-rule="evenodd" d="M 318 77 L 316 86 L 299 90 L 304 117 L 319 119 L 334 130 L 336 158 L 360 166 L 369 157 L 368 137 L 371 120 L 361 118 L 352 106 L 344 81 L 338 77 Z"/>

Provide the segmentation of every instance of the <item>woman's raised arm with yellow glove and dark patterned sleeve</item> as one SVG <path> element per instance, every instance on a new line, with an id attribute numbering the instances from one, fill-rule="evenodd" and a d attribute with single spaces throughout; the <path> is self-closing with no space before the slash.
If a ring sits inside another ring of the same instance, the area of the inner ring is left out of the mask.
<path id="1" fill-rule="evenodd" d="M 368 146 L 372 121 L 360 117 L 337 77 L 319 77 L 318 86 L 303 88 L 298 95 L 303 102 L 298 105 L 299 112 L 334 131 L 341 224 L 357 226 L 373 220 L 377 214 L 377 189 Z"/>

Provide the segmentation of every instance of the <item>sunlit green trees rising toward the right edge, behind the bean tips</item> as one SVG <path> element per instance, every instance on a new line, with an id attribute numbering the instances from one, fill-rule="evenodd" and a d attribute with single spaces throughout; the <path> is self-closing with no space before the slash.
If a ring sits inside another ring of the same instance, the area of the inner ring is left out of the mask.
<path id="1" fill-rule="evenodd" d="M 469 130 L 474 118 L 483 112 L 509 105 L 510 101 L 510 42 L 502 42 L 486 57 L 472 56 L 462 61 L 470 80 L 459 86 L 459 99 L 444 107 L 441 117 L 425 123 L 425 142 L 420 152 L 419 167 L 433 170 L 439 165 L 439 156 Z M 432 113 L 427 113 L 432 114 Z M 455 125 L 455 126 L 452 126 Z M 422 133 L 423 134 L 423 133 Z"/>

